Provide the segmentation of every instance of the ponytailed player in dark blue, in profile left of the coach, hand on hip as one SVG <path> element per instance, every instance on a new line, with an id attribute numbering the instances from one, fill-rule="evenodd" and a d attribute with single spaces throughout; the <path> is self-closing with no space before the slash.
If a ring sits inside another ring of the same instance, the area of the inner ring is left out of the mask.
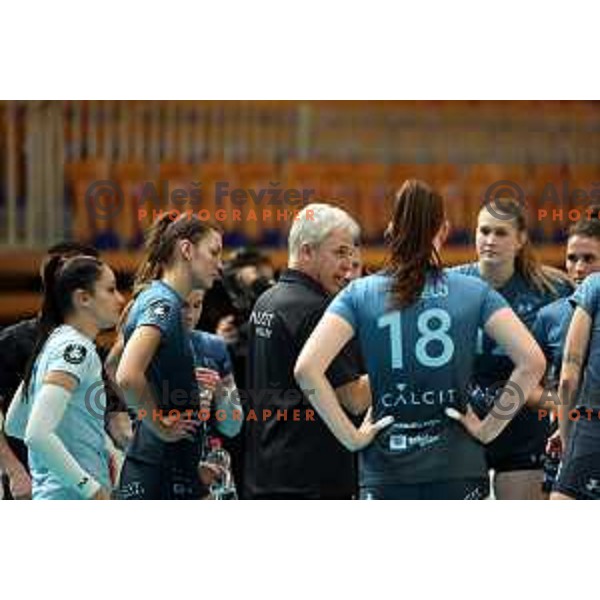
<path id="1" fill-rule="evenodd" d="M 197 498 L 200 421 L 189 411 L 199 409 L 198 386 L 181 311 L 192 289 L 209 289 L 219 276 L 221 235 L 194 216 L 173 220 L 166 213 L 154 223 L 147 250 L 138 279 L 151 282 L 128 311 L 116 369 L 140 417 L 118 497 Z"/>

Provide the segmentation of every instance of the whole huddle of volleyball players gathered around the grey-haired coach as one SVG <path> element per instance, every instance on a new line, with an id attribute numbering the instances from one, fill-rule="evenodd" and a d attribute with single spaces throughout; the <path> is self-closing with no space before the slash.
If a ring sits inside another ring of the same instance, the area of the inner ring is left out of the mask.
<path id="1" fill-rule="evenodd" d="M 157 219 L 127 305 L 94 249 L 53 247 L 40 313 L 0 332 L 4 496 L 200 499 L 235 479 L 247 499 L 600 499 L 600 220 L 571 225 L 566 273 L 511 199 L 481 209 L 475 263 L 442 266 L 449 227 L 405 182 L 363 275 L 357 222 L 306 206 L 239 390 L 226 339 L 196 329 L 218 225 Z"/>

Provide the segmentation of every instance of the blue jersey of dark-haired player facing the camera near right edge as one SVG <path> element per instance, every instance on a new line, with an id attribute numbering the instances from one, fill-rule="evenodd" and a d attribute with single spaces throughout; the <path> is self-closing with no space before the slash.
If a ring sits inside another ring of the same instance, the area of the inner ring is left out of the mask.
<path id="1" fill-rule="evenodd" d="M 533 324 L 533 336 L 548 361 L 546 380 L 554 387 L 560 379 L 565 341 L 574 312 L 569 298 L 559 298 L 544 306 Z"/>

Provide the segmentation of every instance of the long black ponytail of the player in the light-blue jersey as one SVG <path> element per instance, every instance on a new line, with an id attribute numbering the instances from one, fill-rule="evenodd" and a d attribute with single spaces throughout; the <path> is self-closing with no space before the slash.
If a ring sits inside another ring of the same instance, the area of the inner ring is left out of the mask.
<path id="1" fill-rule="evenodd" d="M 73 293 L 85 290 L 93 293 L 96 281 L 102 275 L 103 263 L 91 256 L 65 259 L 53 256 L 44 265 L 44 296 L 38 320 L 38 337 L 25 369 L 24 398 L 27 398 L 33 366 L 50 334 L 65 322 L 74 309 Z"/>

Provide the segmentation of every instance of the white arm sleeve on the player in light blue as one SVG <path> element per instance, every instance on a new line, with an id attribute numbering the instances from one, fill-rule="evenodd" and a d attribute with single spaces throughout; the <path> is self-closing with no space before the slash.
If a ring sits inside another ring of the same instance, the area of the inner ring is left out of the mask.
<path id="1" fill-rule="evenodd" d="M 71 396 L 61 386 L 42 385 L 31 409 L 25 443 L 43 456 L 48 469 L 67 486 L 75 488 L 82 498 L 91 498 L 100 484 L 81 468 L 56 433 Z"/>

